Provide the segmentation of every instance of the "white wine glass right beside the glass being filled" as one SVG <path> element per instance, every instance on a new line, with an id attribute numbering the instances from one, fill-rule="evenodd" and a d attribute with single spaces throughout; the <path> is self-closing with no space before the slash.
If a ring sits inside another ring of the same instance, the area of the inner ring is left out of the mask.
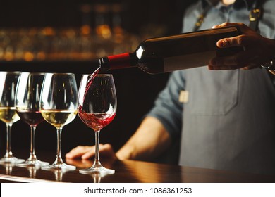
<path id="1" fill-rule="evenodd" d="M 77 114 L 78 89 L 72 73 L 47 73 L 42 86 L 40 108 L 44 120 L 56 127 L 57 153 L 52 165 L 42 170 L 75 170 L 73 165 L 63 163 L 61 158 L 61 132 Z"/>

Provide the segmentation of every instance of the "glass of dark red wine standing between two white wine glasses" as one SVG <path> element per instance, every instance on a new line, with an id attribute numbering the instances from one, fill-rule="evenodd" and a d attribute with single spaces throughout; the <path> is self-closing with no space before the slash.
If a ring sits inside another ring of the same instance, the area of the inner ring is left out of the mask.
<path id="1" fill-rule="evenodd" d="M 44 121 L 41 115 L 39 101 L 44 80 L 44 73 L 22 72 L 16 87 L 16 112 L 23 122 L 30 125 L 30 157 L 18 166 L 49 165 L 42 162 L 35 155 L 35 130 Z"/>

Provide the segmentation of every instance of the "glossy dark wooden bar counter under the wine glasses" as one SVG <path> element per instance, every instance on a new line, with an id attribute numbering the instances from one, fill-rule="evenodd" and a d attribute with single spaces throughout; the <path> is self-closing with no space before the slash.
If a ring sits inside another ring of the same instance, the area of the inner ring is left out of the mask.
<path id="1" fill-rule="evenodd" d="M 45 154 L 47 155 L 47 154 Z M 53 160 L 39 159 L 53 163 Z M 20 155 L 16 155 L 17 157 Z M 64 158 L 64 157 L 63 157 Z M 92 160 L 64 160 L 77 167 L 74 171 L 47 171 L 35 167 L 0 165 L 0 182 L 78 182 L 78 183 L 270 183 L 275 175 L 247 174 L 196 167 L 181 167 L 135 160 L 104 161 L 102 165 L 116 170 L 114 174 L 80 174 L 78 171 L 92 165 Z"/>

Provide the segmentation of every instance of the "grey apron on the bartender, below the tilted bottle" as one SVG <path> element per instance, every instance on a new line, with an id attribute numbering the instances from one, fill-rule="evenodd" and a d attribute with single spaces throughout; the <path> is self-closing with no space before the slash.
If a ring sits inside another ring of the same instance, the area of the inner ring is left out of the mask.
<path id="1" fill-rule="evenodd" d="M 180 165 L 275 174 L 275 90 L 267 70 L 186 70 Z"/>

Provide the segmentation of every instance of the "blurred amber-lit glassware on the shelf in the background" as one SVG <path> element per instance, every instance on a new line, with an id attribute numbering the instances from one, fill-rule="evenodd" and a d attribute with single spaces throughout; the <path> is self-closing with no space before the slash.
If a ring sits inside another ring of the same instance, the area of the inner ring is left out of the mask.
<path id="1" fill-rule="evenodd" d="M 0 29 L 0 61 L 91 61 L 132 51 L 140 39 L 121 23 L 121 0 L 81 4 L 80 27 Z"/>

